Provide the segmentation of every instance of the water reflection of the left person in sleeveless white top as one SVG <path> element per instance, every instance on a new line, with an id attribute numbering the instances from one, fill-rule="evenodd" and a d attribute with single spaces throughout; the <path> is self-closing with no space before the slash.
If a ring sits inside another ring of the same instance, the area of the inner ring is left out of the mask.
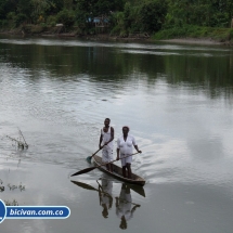
<path id="1" fill-rule="evenodd" d="M 103 207 L 102 215 L 104 218 L 108 217 L 108 209 L 111 209 L 113 205 L 112 191 L 113 181 L 102 179 L 102 185 L 99 184 L 99 196 L 100 205 Z"/>

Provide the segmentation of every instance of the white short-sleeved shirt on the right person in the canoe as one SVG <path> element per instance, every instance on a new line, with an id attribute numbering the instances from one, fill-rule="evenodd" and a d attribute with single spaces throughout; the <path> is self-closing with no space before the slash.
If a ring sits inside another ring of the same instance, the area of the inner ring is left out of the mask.
<path id="1" fill-rule="evenodd" d="M 117 148 L 119 148 L 120 154 L 124 155 L 131 155 L 132 154 L 132 150 L 133 150 L 133 145 L 137 145 L 135 143 L 135 139 L 132 135 L 127 137 L 127 140 L 124 140 L 124 135 L 121 135 L 118 140 L 117 140 Z"/>

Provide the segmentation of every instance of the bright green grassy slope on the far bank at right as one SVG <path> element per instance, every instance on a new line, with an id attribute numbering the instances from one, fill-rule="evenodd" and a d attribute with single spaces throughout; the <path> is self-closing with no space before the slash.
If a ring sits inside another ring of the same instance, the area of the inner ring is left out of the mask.
<path id="1" fill-rule="evenodd" d="M 212 28 L 185 25 L 163 29 L 152 36 L 155 40 L 176 38 L 211 39 L 218 42 L 233 42 L 233 28 Z"/>

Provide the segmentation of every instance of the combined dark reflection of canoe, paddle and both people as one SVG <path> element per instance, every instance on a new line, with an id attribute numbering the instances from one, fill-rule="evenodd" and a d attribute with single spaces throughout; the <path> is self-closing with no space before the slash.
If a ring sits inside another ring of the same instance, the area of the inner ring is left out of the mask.
<path id="1" fill-rule="evenodd" d="M 116 208 L 115 212 L 116 216 L 120 219 L 119 224 L 120 229 L 128 228 L 127 221 L 133 218 L 133 212 L 135 211 L 135 209 L 141 207 L 141 205 L 133 203 L 131 190 L 145 197 L 144 189 L 142 186 L 135 186 L 127 183 L 121 183 L 119 195 L 114 197 L 113 195 L 114 182 L 113 180 L 109 179 L 102 178 L 100 181 L 96 180 L 98 189 L 90 184 L 79 181 L 72 182 L 78 185 L 79 187 L 89 191 L 96 191 L 99 193 L 100 206 L 103 208 L 102 216 L 105 219 L 109 218 L 109 211 L 113 208 L 115 202 Z"/>

